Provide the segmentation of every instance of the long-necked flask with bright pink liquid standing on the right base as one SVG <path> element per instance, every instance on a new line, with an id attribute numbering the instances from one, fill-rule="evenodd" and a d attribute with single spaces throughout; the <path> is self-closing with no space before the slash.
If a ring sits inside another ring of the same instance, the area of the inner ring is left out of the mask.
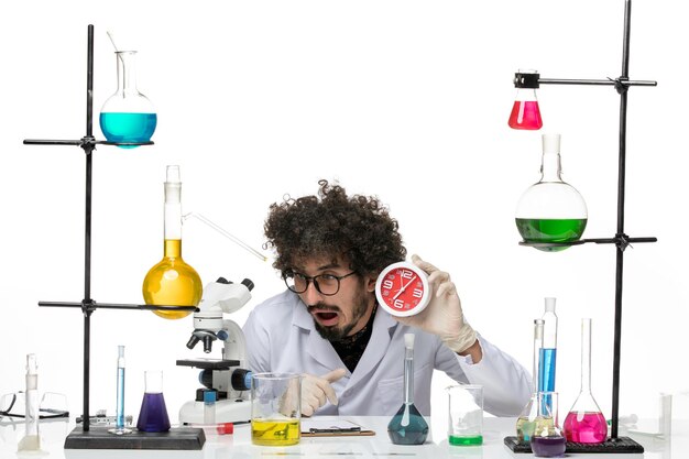
<path id="1" fill-rule="evenodd" d="M 581 392 L 562 427 L 568 441 L 600 444 L 608 437 L 605 416 L 591 393 L 591 319 L 581 319 Z"/>

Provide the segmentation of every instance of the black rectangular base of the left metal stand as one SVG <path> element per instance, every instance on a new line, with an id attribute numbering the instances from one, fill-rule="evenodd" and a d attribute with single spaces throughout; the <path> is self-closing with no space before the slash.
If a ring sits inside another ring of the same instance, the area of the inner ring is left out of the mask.
<path id="1" fill-rule="evenodd" d="M 90 427 L 84 431 L 75 427 L 65 439 L 65 449 L 201 449 L 206 442 L 204 429 L 193 427 L 172 428 L 169 431 L 139 431 L 114 435 L 108 427 Z"/>

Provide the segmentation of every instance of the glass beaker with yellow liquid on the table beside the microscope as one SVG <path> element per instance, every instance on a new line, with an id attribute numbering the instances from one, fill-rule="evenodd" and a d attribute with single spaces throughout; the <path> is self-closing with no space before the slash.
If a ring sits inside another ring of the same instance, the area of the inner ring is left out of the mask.
<path id="1" fill-rule="evenodd" d="M 302 437 L 302 375 L 254 373 L 251 378 L 251 441 L 289 446 Z"/>

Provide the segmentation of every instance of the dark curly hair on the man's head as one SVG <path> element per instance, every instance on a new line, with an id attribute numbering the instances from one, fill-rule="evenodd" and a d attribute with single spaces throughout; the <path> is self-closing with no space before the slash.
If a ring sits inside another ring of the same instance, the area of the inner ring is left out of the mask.
<path id="1" fill-rule="evenodd" d="M 318 196 L 274 203 L 265 220 L 266 248 L 277 252 L 283 274 L 310 258 L 341 258 L 361 275 L 378 275 L 404 260 L 397 220 L 373 196 L 347 196 L 341 186 L 318 181 Z"/>

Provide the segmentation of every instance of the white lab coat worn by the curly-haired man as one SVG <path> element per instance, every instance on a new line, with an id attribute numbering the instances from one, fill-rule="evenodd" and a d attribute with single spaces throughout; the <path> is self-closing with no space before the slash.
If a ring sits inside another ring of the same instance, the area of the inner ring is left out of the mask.
<path id="1" fill-rule="evenodd" d="M 244 324 L 248 365 L 254 372 L 294 372 L 324 375 L 347 368 L 330 341 L 320 337 L 299 296 L 291 291 L 256 306 Z M 398 324 L 378 308 L 373 331 L 354 372 L 332 383 L 339 404 L 329 402 L 316 415 L 392 416 L 403 402 L 404 335 L 414 341 L 414 404 L 430 415 L 434 369 L 459 383 L 483 385 L 483 408 L 495 416 L 517 416 L 528 402 L 532 380 L 512 357 L 479 337 L 483 358 L 452 352 L 435 336 Z M 445 409 L 445 407 L 436 407 Z"/>

